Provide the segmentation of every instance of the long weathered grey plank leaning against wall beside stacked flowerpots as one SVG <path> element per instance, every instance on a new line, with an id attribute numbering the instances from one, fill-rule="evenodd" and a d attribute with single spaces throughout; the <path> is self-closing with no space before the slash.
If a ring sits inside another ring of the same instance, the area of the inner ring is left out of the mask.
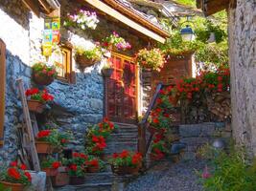
<path id="1" fill-rule="evenodd" d="M 19 89 L 22 108 L 23 108 L 23 115 L 25 118 L 25 122 L 27 125 L 27 131 L 28 131 L 28 135 L 29 135 L 29 139 L 30 139 L 30 148 L 31 148 L 31 155 L 32 155 L 34 170 L 40 171 L 40 163 L 39 163 L 39 159 L 38 159 L 36 148 L 35 148 L 35 137 L 34 137 L 34 133 L 33 133 L 32 121 L 31 121 L 31 117 L 30 117 L 30 111 L 28 108 L 28 103 L 27 103 L 27 99 L 25 96 L 25 90 L 24 90 L 24 85 L 23 85 L 22 79 L 18 78 L 17 83 L 18 83 L 18 89 Z"/>

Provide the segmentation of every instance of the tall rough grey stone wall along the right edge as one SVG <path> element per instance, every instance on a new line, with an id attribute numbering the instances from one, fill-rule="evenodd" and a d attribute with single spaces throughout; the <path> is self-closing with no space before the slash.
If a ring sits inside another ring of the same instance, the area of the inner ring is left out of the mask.
<path id="1" fill-rule="evenodd" d="M 256 4 L 237 0 L 229 10 L 232 126 L 234 138 L 256 155 Z"/>

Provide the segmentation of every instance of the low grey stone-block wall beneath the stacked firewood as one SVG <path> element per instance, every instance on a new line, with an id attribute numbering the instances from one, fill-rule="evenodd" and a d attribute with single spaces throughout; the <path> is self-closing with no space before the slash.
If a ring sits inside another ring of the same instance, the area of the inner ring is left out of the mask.
<path id="1" fill-rule="evenodd" d="M 199 124 L 179 125 L 179 142 L 185 146 L 183 159 L 197 159 L 198 150 L 205 144 L 212 144 L 217 138 L 228 146 L 232 130 L 229 124 L 222 122 L 205 122 Z M 175 147 L 175 146 L 174 146 Z"/>

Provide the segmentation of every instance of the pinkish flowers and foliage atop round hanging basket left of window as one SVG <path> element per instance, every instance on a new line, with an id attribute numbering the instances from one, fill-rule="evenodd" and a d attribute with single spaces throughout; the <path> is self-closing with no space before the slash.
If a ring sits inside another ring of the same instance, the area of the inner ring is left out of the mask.
<path id="1" fill-rule="evenodd" d="M 56 77 L 58 74 L 54 66 L 48 66 L 47 63 L 44 62 L 35 63 L 32 67 L 32 71 L 35 74 L 35 77 L 39 75 Z"/>

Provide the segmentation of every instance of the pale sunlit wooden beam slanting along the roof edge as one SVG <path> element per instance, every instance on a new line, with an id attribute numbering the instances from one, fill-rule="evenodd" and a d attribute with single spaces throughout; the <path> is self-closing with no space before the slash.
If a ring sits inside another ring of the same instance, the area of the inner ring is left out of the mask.
<path id="1" fill-rule="evenodd" d="M 119 20 L 120 22 L 128 25 L 133 30 L 135 30 L 137 32 L 141 32 L 144 35 L 147 35 L 147 36 L 151 37 L 152 39 L 154 39 L 154 40 L 156 40 L 160 43 L 164 43 L 165 40 L 166 40 L 162 36 L 160 36 L 160 35 L 158 35 L 154 32 L 151 32 L 150 30 L 144 28 L 143 26 L 141 26 L 138 23 L 134 22 L 133 20 L 129 19 L 127 16 L 123 15 L 119 11 L 115 11 L 111 7 L 105 5 L 105 3 L 103 3 L 100 0 L 84 0 L 84 1 L 88 4 L 90 4 L 91 6 L 95 7 L 99 11 L 104 11 L 109 16 L 111 16 L 111 17 Z"/>

